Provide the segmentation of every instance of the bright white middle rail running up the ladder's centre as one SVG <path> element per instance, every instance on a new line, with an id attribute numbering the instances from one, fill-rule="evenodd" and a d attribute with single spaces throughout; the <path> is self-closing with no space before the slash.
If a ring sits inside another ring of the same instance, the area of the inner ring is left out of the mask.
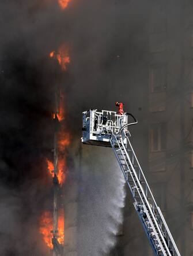
<path id="1" fill-rule="evenodd" d="M 171 252 L 169 251 L 169 248 L 168 248 L 168 246 L 167 246 L 167 244 L 166 244 L 166 242 L 165 242 L 165 239 L 164 239 L 164 236 L 163 236 L 163 234 L 162 234 L 162 230 L 161 230 L 161 228 L 160 228 L 160 225 L 158 224 L 158 221 L 157 221 L 157 219 L 156 219 L 156 217 L 155 217 L 155 215 L 154 215 L 154 213 L 153 213 L 153 211 L 152 211 L 152 207 L 150 206 L 150 203 L 149 203 L 149 201 L 148 201 L 147 198 L 146 198 L 146 194 L 145 194 L 145 192 L 144 192 L 144 190 L 143 190 L 143 187 L 142 187 L 142 185 L 141 185 L 141 183 L 140 183 L 140 181 L 139 181 L 139 179 L 138 179 L 137 173 L 135 172 L 134 166 L 133 166 L 133 164 L 132 164 L 132 162 L 131 162 L 131 159 L 130 159 L 128 153 L 127 153 L 127 150 L 126 150 L 126 148 L 125 148 L 125 146 L 124 146 L 124 143 L 123 143 L 122 138 L 120 139 L 120 142 L 121 142 L 122 147 L 123 147 L 123 149 L 124 149 L 124 151 L 125 151 L 125 153 L 126 153 L 126 155 L 127 155 L 128 162 L 129 162 L 130 165 L 131 165 L 131 169 L 132 169 L 133 172 L 134 172 L 135 179 L 137 179 L 137 181 L 138 181 L 139 188 L 140 188 L 141 191 L 142 191 L 142 194 L 143 194 L 143 196 L 144 196 L 145 202 L 146 202 L 147 207 L 148 207 L 148 209 L 149 209 L 149 212 L 150 212 L 150 214 L 151 214 L 151 216 L 152 216 L 152 218 L 153 218 L 153 221 L 154 221 L 154 223 L 155 223 L 155 225 L 156 225 L 156 227 L 157 227 L 157 229 L 158 229 L 158 232 L 159 232 L 159 234 L 160 234 L 160 236 L 161 236 L 162 242 L 164 243 L 164 246 L 165 246 L 165 248 L 166 248 L 166 251 L 167 251 L 167 253 L 168 253 L 169 256 L 172 256 L 172 255 L 171 255 Z M 141 170 L 141 171 L 142 171 L 142 170 Z M 148 184 L 147 184 L 147 185 L 148 185 Z"/>

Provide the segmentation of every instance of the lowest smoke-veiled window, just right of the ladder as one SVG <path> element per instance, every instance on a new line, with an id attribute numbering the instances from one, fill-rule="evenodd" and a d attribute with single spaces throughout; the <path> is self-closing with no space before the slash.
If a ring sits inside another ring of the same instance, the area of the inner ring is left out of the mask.
<path id="1" fill-rule="evenodd" d="M 156 200 L 158 206 L 161 207 L 161 210 L 166 210 L 167 201 L 166 201 L 166 184 L 165 183 L 155 183 L 152 185 L 153 196 Z"/>

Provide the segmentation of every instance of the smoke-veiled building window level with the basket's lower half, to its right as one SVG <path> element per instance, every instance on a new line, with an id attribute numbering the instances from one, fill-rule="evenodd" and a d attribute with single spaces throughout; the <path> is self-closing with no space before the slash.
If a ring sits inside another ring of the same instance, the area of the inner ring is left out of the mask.
<path id="1" fill-rule="evenodd" d="M 166 125 L 152 124 L 149 129 L 150 151 L 166 149 Z"/>

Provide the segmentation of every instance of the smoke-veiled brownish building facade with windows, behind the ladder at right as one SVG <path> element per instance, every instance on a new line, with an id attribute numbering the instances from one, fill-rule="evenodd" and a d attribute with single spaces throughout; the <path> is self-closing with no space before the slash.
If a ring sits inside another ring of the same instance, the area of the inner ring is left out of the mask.
<path id="1" fill-rule="evenodd" d="M 143 77 L 144 81 L 148 77 L 148 83 L 138 88 L 142 92 L 138 95 L 141 101 L 147 102 L 139 118 L 142 128 L 137 128 L 143 129 L 139 152 L 147 180 L 180 253 L 190 256 L 193 255 L 193 2 L 152 1 L 149 17 L 145 39 L 149 46 L 148 67 Z M 113 255 L 138 256 L 145 251 L 146 255 L 153 255 L 143 242 L 145 236 L 131 204 L 124 216 L 123 236 L 118 239 Z"/>

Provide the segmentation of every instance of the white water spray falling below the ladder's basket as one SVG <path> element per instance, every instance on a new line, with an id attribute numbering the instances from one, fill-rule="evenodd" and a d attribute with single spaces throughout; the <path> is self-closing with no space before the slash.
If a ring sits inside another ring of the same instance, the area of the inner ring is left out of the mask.
<path id="1" fill-rule="evenodd" d="M 123 222 L 124 177 L 112 149 L 83 146 L 78 195 L 78 255 L 107 255 Z"/>

